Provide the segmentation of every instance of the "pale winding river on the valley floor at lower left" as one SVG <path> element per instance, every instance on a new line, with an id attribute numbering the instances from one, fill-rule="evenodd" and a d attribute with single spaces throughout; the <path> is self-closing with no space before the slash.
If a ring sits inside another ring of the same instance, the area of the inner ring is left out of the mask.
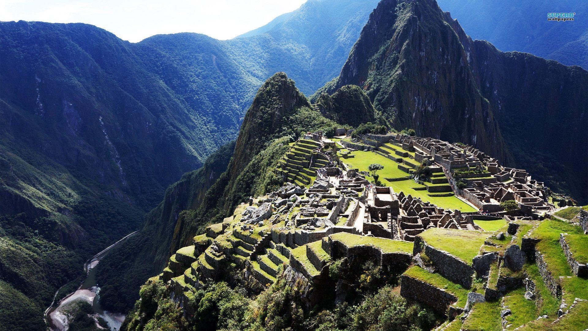
<path id="1" fill-rule="evenodd" d="M 56 298 L 54 298 L 54 302 L 45 310 L 45 323 L 49 331 L 67 331 L 69 329 L 69 322 L 76 315 L 76 308 L 80 302 L 91 304 L 93 310 L 91 317 L 95 320 L 96 327 L 99 329 L 117 331 L 121 328 L 122 322 L 125 320 L 125 315 L 102 309 L 100 304 L 100 287 L 96 284 L 95 267 L 106 253 L 108 253 L 108 250 L 133 236 L 136 232 L 128 234 L 88 260 L 83 266 L 86 278 L 75 292 L 69 293 L 63 299 L 59 300 L 59 302 L 55 302 Z M 55 296 L 57 296 L 58 292 L 55 293 Z M 101 317 L 108 327 L 105 328 L 99 325 L 98 317 Z"/>

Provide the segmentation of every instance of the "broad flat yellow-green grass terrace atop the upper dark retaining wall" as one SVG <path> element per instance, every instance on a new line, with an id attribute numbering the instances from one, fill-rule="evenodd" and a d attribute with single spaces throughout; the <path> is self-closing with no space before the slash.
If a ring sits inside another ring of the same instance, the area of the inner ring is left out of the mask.
<path id="1" fill-rule="evenodd" d="M 484 244 L 487 233 L 471 230 L 454 230 L 432 228 L 419 234 L 427 244 L 436 249 L 447 251 L 464 262 L 472 265 L 472 259 L 477 256 Z"/>

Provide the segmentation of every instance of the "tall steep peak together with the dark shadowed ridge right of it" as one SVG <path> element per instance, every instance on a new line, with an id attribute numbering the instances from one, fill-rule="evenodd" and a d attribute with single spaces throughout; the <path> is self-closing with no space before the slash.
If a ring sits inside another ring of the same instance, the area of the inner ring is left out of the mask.
<path id="1" fill-rule="evenodd" d="M 580 171 L 572 158 L 586 160 L 588 154 L 586 135 L 578 130 L 588 125 L 586 75 L 577 67 L 472 41 L 435 0 L 384 0 L 339 77 L 320 92 L 359 85 L 393 127 L 474 145 L 584 201 L 586 169 Z M 563 130 L 579 144 L 569 144 L 566 134 L 533 134 L 540 132 L 536 128 Z M 554 164 L 563 171 L 553 172 Z M 580 185 L 571 183 L 576 179 Z"/>

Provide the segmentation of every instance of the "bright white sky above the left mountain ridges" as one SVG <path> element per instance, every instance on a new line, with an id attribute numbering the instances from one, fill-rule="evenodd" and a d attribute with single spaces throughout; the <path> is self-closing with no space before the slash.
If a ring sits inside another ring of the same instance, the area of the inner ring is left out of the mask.
<path id="1" fill-rule="evenodd" d="M 0 0 L 0 21 L 81 22 L 138 42 L 198 32 L 230 39 L 291 12 L 306 0 Z"/>

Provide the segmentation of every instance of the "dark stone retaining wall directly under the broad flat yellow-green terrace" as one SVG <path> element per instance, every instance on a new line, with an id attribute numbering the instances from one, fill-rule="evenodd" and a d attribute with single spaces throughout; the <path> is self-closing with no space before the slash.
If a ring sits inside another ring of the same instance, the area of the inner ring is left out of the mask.
<path id="1" fill-rule="evenodd" d="M 413 255 L 425 251 L 425 254 L 433 264 L 435 264 L 436 272 L 442 274 L 447 279 L 454 283 L 469 289 L 472 286 L 472 277 L 474 269 L 472 266 L 464 262 L 459 257 L 453 256 L 446 251 L 435 249 L 427 245 L 426 241 L 421 237 L 415 237 L 415 248 Z"/>

